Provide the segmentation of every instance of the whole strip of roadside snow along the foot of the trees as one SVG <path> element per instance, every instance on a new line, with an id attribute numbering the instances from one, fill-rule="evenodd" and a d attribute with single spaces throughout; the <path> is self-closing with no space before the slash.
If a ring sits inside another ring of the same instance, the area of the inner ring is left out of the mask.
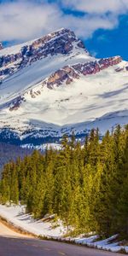
<path id="1" fill-rule="evenodd" d="M 89 247 L 96 247 L 104 250 L 111 250 L 112 252 L 119 252 L 121 248 L 125 249 L 128 253 L 128 246 L 120 246 L 119 242 L 113 242 L 117 235 L 111 236 L 108 239 L 102 241 L 96 241 L 99 236 L 89 237 L 67 237 L 63 238 L 67 234 L 67 228 L 63 226 L 62 222 L 59 221 L 57 226 L 53 222 L 35 220 L 30 214 L 25 213 L 24 206 L 5 206 L 0 205 L 0 217 L 7 219 L 11 224 L 16 227 L 20 227 L 23 230 L 31 232 L 37 236 L 47 236 L 48 238 L 59 238 L 61 241 L 74 241 L 78 244 L 83 244 Z M 54 227 L 55 225 L 55 227 Z"/>

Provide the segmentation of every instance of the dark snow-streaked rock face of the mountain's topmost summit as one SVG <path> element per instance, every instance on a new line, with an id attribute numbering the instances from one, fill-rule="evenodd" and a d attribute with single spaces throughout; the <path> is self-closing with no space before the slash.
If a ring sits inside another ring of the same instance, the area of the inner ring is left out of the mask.
<path id="1" fill-rule="evenodd" d="M 84 44 L 68 29 L 61 29 L 43 38 L 25 44 L 15 54 L 0 54 L 0 79 L 15 73 L 32 62 L 46 58 L 48 55 L 67 55 L 73 47 L 84 49 Z M 84 49 L 87 53 L 87 50 Z M 16 51 L 16 50 L 15 50 Z"/>

